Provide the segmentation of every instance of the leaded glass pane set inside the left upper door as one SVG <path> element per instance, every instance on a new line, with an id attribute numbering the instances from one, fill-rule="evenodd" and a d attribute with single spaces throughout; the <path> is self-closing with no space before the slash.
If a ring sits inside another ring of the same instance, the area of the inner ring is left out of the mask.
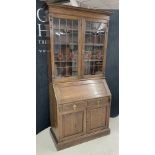
<path id="1" fill-rule="evenodd" d="M 57 78 L 78 75 L 78 20 L 53 18 Z"/>

